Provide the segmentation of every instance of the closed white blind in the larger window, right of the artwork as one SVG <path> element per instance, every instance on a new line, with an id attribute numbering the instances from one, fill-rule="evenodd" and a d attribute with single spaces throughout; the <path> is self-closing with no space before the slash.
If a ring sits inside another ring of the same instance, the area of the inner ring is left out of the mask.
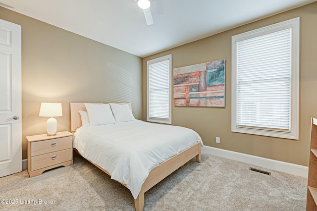
<path id="1" fill-rule="evenodd" d="M 237 124 L 290 131 L 291 29 L 237 42 Z"/>

